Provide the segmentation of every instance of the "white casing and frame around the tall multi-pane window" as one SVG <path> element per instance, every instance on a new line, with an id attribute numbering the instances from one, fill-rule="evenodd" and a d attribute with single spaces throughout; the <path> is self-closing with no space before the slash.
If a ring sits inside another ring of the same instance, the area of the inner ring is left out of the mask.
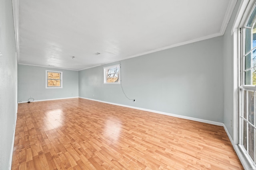
<path id="1" fill-rule="evenodd" d="M 244 70 L 243 70 L 243 54 L 242 51 L 244 50 L 243 45 L 243 37 L 242 37 L 242 27 L 244 27 L 246 23 L 246 19 L 250 15 L 253 6 L 255 4 L 256 0 L 242 0 L 238 13 L 236 15 L 236 19 L 234 21 L 234 25 L 231 30 L 231 35 L 233 35 L 233 140 L 230 137 L 230 141 L 232 142 L 232 145 L 242 163 L 245 169 L 255 169 L 254 163 L 250 156 L 246 154 L 246 150 L 243 148 L 242 144 L 242 119 L 241 113 L 244 109 L 242 101 L 244 101 L 244 95 L 243 92 L 245 90 L 253 90 L 255 92 L 256 87 L 255 86 L 245 86 L 244 85 Z M 254 93 L 255 94 L 255 93 Z M 256 97 L 256 96 L 255 96 Z M 247 140 L 248 142 L 248 140 Z"/>

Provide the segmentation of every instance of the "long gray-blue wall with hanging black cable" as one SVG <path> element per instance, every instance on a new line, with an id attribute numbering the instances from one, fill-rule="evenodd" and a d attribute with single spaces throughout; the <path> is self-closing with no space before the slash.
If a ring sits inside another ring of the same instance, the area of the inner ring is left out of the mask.
<path id="1" fill-rule="evenodd" d="M 223 122 L 223 36 L 121 61 L 120 84 L 103 84 L 106 64 L 79 71 L 79 96 Z"/>

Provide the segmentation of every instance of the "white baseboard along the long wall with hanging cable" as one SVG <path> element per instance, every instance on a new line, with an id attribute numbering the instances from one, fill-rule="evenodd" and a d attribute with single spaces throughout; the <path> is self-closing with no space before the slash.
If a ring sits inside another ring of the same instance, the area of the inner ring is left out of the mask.
<path id="1" fill-rule="evenodd" d="M 173 113 L 166 113 L 163 111 L 156 111 L 156 110 L 151 110 L 151 109 L 144 109 L 141 107 L 134 107 L 134 106 L 128 106 L 128 105 L 123 105 L 123 104 L 116 104 L 116 103 L 111 103 L 111 102 L 105 102 L 102 100 L 94 100 L 94 99 L 90 99 L 90 98 L 83 98 L 83 97 L 79 97 L 82 99 L 87 99 L 87 100 L 93 100 L 96 102 L 102 102 L 102 103 L 106 103 L 106 104 L 112 104 L 112 105 L 116 105 L 116 106 L 123 106 L 123 107 L 129 107 L 132 109 L 138 109 L 138 110 L 143 110 L 143 111 L 149 111 L 149 112 L 153 112 L 153 113 L 158 113 L 158 114 L 162 114 L 162 115 L 168 115 L 168 116 L 172 116 L 172 117 L 178 117 L 178 118 L 182 118 L 182 119 L 188 119 L 188 120 L 193 120 L 193 121 L 199 121 L 202 123 L 208 123 L 208 124 L 212 124 L 212 125 L 218 125 L 218 126 L 223 126 L 223 123 L 220 122 L 216 122 L 216 121 L 210 121 L 210 120 L 205 120 L 205 119 L 198 119 L 198 118 L 194 118 L 194 117 L 188 117 L 188 116 L 183 116 L 183 115 L 176 115 Z"/>

